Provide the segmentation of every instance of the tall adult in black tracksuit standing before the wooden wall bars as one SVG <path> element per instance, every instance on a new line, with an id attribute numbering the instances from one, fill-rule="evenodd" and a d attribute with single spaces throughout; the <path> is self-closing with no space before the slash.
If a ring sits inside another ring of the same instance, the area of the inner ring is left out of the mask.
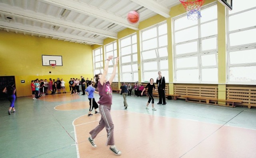
<path id="1" fill-rule="evenodd" d="M 158 78 L 156 79 L 156 84 L 158 88 L 158 94 L 159 94 L 159 102 L 157 104 L 165 105 L 165 78 L 162 76 L 162 73 L 158 72 Z"/>

